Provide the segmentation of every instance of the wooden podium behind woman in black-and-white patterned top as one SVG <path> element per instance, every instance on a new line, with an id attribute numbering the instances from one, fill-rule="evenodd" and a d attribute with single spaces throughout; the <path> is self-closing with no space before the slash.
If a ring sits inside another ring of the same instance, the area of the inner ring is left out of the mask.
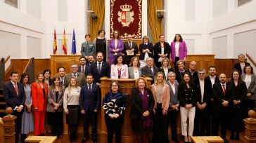
<path id="1" fill-rule="evenodd" d="M 151 78 L 146 77 L 148 83 L 146 85 L 147 88 L 151 88 Z M 113 79 L 101 78 L 101 101 L 105 93 L 110 91 L 110 83 Z M 136 82 L 134 79 L 118 79 L 120 84 L 120 91 L 127 95 L 129 99 L 131 98 L 132 90 L 136 88 Z M 122 142 L 137 142 L 134 132 L 132 131 L 132 119 L 129 118 L 129 114 L 131 112 L 132 103 L 130 102 L 128 106 L 124 110 L 124 124 L 122 125 Z M 108 140 L 108 132 L 105 125 L 105 113 L 103 107 L 101 106 L 101 142 L 107 142 Z M 114 137 L 115 140 L 115 137 Z"/>

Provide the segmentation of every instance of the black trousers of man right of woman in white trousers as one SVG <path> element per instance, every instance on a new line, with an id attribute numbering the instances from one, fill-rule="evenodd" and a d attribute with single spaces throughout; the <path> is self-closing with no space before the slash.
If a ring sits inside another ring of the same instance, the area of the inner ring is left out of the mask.
<path id="1" fill-rule="evenodd" d="M 210 135 L 210 114 L 207 109 L 200 110 L 196 107 L 196 116 L 195 116 L 195 128 L 193 134 L 196 136 L 205 136 L 205 128 L 206 134 Z"/>

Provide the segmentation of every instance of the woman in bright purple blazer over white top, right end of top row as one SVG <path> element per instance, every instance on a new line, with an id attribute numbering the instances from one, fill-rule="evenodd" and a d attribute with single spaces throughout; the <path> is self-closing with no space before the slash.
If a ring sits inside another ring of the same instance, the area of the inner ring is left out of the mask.
<path id="1" fill-rule="evenodd" d="M 187 49 L 186 42 L 183 41 L 181 34 L 176 34 L 173 42 L 171 43 L 171 57 L 170 62 L 176 65 L 178 60 L 186 61 Z M 177 69 L 177 67 L 175 67 Z"/>

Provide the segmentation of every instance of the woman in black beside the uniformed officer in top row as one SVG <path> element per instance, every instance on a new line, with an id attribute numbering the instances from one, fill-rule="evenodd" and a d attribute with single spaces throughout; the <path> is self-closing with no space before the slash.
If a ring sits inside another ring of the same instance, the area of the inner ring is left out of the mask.
<path id="1" fill-rule="evenodd" d="M 98 30 L 98 37 L 94 39 L 95 53 L 103 53 L 103 61 L 107 62 L 107 40 L 105 39 L 105 30 Z"/>

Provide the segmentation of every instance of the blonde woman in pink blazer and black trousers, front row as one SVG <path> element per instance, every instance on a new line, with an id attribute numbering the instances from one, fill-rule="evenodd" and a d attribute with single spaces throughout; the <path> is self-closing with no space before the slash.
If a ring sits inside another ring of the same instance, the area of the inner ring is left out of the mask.
<path id="1" fill-rule="evenodd" d="M 155 83 L 151 86 L 154 96 L 153 142 L 167 142 L 167 110 L 169 108 L 169 86 L 164 79 L 165 74 L 155 74 Z"/>

